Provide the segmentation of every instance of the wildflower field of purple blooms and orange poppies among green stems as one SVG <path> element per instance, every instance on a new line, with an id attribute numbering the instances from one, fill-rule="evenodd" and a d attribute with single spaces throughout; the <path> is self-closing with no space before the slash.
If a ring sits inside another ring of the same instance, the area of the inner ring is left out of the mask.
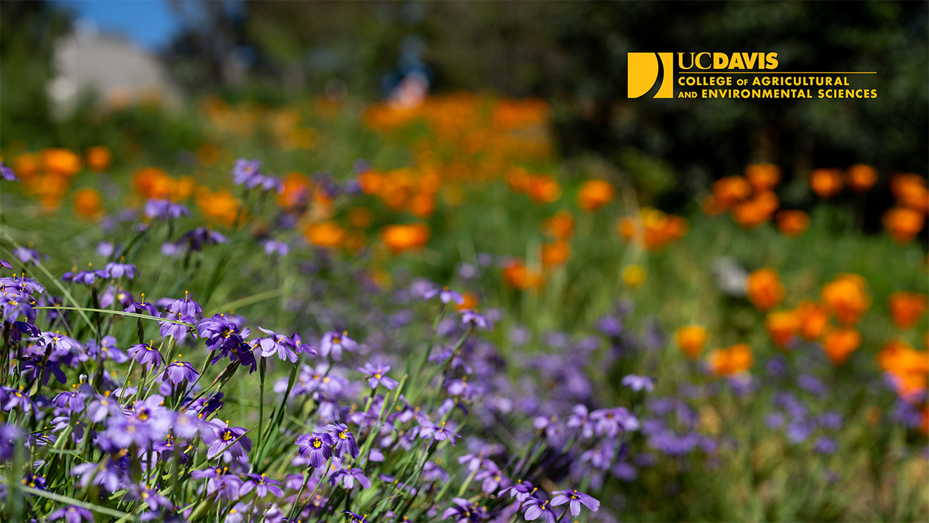
<path id="1" fill-rule="evenodd" d="M 926 180 L 760 157 L 662 211 L 550 112 L 0 144 L 0 519 L 925 520 Z"/>

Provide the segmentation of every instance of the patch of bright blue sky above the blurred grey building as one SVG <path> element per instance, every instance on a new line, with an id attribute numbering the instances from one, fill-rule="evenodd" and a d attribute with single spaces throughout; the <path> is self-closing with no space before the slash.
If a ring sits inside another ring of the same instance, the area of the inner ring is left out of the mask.
<path id="1" fill-rule="evenodd" d="M 122 33 L 148 49 L 164 46 L 180 25 L 167 0 L 55 0 L 100 31 Z"/>

